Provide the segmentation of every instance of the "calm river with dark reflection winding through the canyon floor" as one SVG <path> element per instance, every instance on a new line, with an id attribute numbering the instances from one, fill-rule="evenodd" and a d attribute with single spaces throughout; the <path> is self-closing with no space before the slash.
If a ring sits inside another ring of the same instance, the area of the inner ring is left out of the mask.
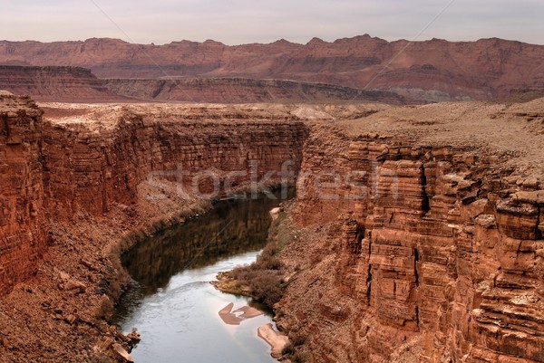
<path id="1" fill-rule="evenodd" d="M 113 323 L 124 333 L 138 328 L 132 349 L 137 363 L 267 363 L 268 344 L 257 327 L 267 314 L 228 325 L 219 310 L 256 306 L 246 297 L 217 291 L 209 282 L 218 272 L 252 263 L 264 247 L 268 211 L 278 199 L 221 201 L 209 213 L 136 244 L 122 255 L 131 287 L 121 297 Z M 257 307 L 258 308 L 258 307 Z"/>

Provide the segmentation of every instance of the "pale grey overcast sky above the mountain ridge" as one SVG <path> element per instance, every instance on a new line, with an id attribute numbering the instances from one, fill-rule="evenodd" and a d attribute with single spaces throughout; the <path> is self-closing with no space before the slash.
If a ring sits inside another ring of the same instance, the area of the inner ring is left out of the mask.
<path id="1" fill-rule="evenodd" d="M 544 0 L 0 0 L 0 40 L 307 43 L 499 37 L 544 44 Z"/>

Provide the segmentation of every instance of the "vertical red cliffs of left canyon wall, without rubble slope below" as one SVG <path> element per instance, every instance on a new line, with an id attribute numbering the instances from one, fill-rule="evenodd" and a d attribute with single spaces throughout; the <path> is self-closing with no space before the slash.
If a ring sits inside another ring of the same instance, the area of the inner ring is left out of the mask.
<path id="1" fill-rule="evenodd" d="M 199 107 L 165 116 L 168 108 L 141 114 L 115 106 L 43 121 L 34 101 L 0 97 L 0 295 L 33 275 L 50 225 L 177 200 L 177 210 L 150 212 L 168 216 L 184 198 L 293 183 L 307 135 L 285 115 Z"/>

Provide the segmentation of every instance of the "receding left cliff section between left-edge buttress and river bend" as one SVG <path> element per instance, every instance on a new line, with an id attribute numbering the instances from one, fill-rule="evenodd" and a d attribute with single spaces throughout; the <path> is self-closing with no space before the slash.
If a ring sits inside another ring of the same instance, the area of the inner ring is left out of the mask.
<path id="1" fill-rule="evenodd" d="M 141 198 L 220 197 L 225 188 L 294 180 L 307 134 L 302 122 L 197 106 L 176 115 L 169 108 L 175 107 L 141 113 L 118 106 L 107 116 L 101 110 L 47 122 L 48 208 L 102 215 Z"/>

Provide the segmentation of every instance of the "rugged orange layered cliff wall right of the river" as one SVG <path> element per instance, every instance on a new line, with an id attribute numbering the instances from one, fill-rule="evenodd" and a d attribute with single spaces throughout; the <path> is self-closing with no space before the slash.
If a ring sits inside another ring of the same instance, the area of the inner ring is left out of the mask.
<path id="1" fill-rule="evenodd" d="M 315 362 L 544 361 L 541 184 L 499 165 L 315 129 L 280 326 Z"/>

